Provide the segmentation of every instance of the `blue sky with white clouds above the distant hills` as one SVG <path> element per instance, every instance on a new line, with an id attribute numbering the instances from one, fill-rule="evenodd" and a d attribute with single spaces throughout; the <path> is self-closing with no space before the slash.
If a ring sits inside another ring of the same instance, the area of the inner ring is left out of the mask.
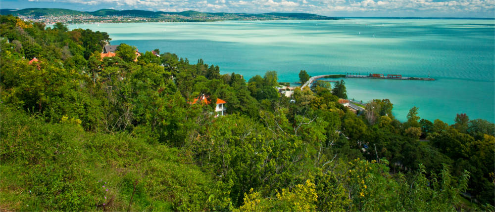
<path id="1" fill-rule="evenodd" d="M 495 0 L 0 0 L 0 8 L 304 12 L 335 17 L 495 17 Z"/>

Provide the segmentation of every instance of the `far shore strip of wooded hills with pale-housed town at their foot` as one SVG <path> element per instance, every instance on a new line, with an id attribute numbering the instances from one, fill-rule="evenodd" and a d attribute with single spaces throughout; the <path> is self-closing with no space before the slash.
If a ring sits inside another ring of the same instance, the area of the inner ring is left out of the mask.
<path id="1" fill-rule="evenodd" d="M 54 24 L 79 23 L 126 23 L 126 22 L 204 22 L 225 20 L 334 20 L 327 17 L 308 13 L 207 13 L 198 11 L 183 12 L 153 12 L 145 10 L 113 10 L 101 9 L 94 12 L 76 11 L 53 8 L 1 9 L 3 15 L 18 16 L 25 21 Z"/>

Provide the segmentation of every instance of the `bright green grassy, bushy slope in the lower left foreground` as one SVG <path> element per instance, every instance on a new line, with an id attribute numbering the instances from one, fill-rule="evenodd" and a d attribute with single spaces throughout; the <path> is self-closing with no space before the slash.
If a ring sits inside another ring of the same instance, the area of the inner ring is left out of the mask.
<path id="1" fill-rule="evenodd" d="M 47 124 L 3 106 L 0 124 L 2 210 L 127 211 L 133 196 L 132 211 L 202 211 L 221 198 L 221 185 L 164 145 Z"/>

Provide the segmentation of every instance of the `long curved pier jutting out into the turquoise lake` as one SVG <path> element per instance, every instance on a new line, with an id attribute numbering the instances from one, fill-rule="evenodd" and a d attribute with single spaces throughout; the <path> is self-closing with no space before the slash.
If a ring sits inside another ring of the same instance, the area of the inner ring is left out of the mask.
<path id="1" fill-rule="evenodd" d="M 430 74 L 428 74 L 429 76 Z M 311 85 L 314 81 L 318 81 L 320 78 L 364 78 L 364 79 L 386 79 L 386 80 L 423 80 L 423 81 L 434 81 L 435 79 L 430 77 L 402 77 L 402 75 L 389 74 L 385 76 L 384 74 L 370 74 L 370 75 L 350 75 L 350 74 L 327 74 L 327 75 L 318 75 L 309 78 L 306 83 L 301 86 L 302 88 Z M 322 80 L 326 81 L 326 80 Z M 337 81 L 327 81 L 327 82 L 337 82 Z"/>

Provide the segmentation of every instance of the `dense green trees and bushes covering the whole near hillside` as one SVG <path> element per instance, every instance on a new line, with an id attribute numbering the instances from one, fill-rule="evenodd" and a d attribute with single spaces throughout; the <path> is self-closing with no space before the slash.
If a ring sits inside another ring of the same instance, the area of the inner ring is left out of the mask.
<path id="1" fill-rule="evenodd" d="M 344 82 L 281 96 L 106 33 L 1 16 L 1 208 L 12 211 L 493 210 L 494 124 L 356 115 Z M 38 62 L 29 64 L 33 57 Z M 210 104 L 192 104 L 199 95 Z M 223 99 L 226 116 L 215 118 Z"/>

